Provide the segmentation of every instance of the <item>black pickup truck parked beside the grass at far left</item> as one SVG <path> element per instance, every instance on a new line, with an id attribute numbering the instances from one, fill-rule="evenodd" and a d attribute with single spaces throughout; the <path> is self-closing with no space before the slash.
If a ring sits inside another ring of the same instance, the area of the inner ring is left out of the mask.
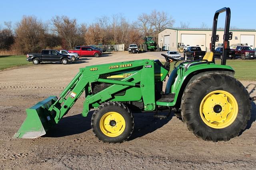
<path id="1" fill-rule="evenodd" d="M 70 55 L 60 54 L 57 50 L 42 50 L 41 54 L 27 54 L 26 61 L 32 61 L 33 64 L 41 62 L 61 62 L 68 64 L 72 62 Z"/>

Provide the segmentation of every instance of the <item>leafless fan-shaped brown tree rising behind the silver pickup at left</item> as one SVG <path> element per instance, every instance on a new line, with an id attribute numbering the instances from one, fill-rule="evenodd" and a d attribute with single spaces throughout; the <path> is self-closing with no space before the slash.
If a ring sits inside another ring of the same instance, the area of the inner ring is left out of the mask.
<path id="1" fill-rule="evenodd" d="M 55 16 L 52 18 L 53 31 L 64 39 L 70 49 L 73 49 L 79 39 L 79 28 L 76 19 L 69 19 L 67 16 Z"/>

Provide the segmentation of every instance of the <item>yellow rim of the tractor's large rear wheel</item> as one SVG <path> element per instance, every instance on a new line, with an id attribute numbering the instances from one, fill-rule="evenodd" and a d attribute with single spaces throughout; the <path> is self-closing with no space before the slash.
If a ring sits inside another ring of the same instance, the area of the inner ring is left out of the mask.
<path id="1" fill-rule="evenodd" d="M 238 115 L 236 98 L 224 90 L 212 91 L 200 104 L 200 117 L 206 125 L 222 129 L 231 125 Z"/>

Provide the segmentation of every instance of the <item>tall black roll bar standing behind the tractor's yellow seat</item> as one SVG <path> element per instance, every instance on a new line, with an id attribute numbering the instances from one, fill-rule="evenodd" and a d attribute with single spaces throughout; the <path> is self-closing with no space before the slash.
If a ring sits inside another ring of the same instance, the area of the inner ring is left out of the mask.
<path id="1" fill-rule="evenodd" d="M 218 16 L 220 13 L 226 12 L 226 20 L 225 20 L 225 29 L 224 29 L 224 36 L 223 36 L 223 51 L 222 51 L 222 58 L 221 64 L 226 65 L 226 56 L 229 49 L 229 40 L 232 39 L 232 32 L 229 32 L 230 28 L 230 8 L 221 8 L 217 10 L 214 14 L 213 25 L 212 25 L 212 39 L 211 39 L 211 51 L 214 53 L 215 51 L 215 42 L 219 41 L 219 35 L 216 35 L 217 31 L 217 22 Z"/>

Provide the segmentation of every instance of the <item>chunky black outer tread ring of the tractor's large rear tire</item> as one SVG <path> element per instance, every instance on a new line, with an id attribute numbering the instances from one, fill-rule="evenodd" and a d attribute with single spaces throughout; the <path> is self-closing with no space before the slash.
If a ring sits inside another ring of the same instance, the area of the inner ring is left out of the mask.
<path id="1" fill-rule="evenodd" d="M 237 129 L 234 128 L 233 131 L 227 131 L 222 133 L 214 133 L 212 131 L 211 133 L 205 133 L 206 129 L 202 130 L 200 129 L 201 127 L 195 126 L 196 120 L 191 119 L 192 110 L 189 108 L 189 105 L 194 104 L 194 99 L 192 99 L 190 96 L 197 95 L 197 91 L 202 89 L 203 86 L 206 86 L 206 84 L 218 84 L 218 82 L 220 82 L 221 80 L 229 82 L 230 84 L 228 84 L 228 86 L 231 86 L 231 84 L 235 84 L 236 87 L 239 88 L 240 96 L 243 97 L 243 100 L 246 100 L 244 101 L 244 110 L 248 112 L 244 113 L 244 116 L 238 116 L 236 118 L 239 120 L 240 127 Z M 246 128 L 247 122 L 250 119 L 251 114 L 251 102 L 247 90 L 244 88 L 242 83 L 236 80 L 234 77 L 223 73 L 208 73 L 196 78 L 188 85 L 188 87 L 184 91 L 184 94 L 182 95 L 181 110 L 183 121 L 186 123 L 188 129 L 192 131 L 197 137 L 202 138 L 203 140 L 210 140 L 214 142 L 228 141 L 231 138 L 238 136 L 240 132 Z M 241 117 L 243 119 L 241 119 Z"/>

